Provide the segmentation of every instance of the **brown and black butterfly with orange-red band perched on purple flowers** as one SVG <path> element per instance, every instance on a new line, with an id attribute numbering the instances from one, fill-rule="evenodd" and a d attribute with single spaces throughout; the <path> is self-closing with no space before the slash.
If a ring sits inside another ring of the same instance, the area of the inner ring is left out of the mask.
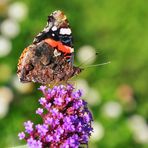
<path id="1" fill-rule="evenodd" d="M 48 16 L 47 25 L 24 49 L 17 75 L 21 82 L 55 84 L 67 82 L 82 69 L 73 65 L 73 38 L 66 15 L 54 11 Z"/>

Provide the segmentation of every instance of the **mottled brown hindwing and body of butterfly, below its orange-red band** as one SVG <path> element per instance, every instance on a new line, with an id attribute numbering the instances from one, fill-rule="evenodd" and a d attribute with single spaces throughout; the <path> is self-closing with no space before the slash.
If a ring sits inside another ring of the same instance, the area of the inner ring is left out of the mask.
<path id="1" fill-rule="evenodd" d="M 18 76 L 22 82 L 51 84 L 67 81 L 80 71 L 65 61 L 64 54 L 61 55 L 44 41 L 27 49 L 18 68 Z"/>

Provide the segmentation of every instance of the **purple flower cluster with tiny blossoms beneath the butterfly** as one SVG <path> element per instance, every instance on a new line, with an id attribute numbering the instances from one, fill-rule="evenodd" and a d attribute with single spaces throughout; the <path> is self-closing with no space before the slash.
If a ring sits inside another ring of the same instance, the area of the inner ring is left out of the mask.
<path id="1" fill-rule="evenodd" d="M 78 148 L 88 144 L 92 132 L 92 115 L 87 103 L 81 99 L 82 92 L 75 91 L 72 85 L 55 86 L 52 89 L 41 86 L 44 97 L 39 99 L 42 108 L 36 114 L 43 119 L 42 124 L 24 123 L 25 139 L 29 148 Z"/>

